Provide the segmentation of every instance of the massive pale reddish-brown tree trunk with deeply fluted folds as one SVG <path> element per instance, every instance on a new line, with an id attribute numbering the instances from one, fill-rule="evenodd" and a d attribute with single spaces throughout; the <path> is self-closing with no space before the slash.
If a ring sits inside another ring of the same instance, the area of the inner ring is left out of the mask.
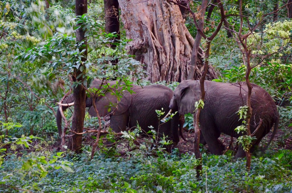
<path id="1" fill-rule="evenodd" d="M 133 39 L 130 53 L 145 64 L 147 79 L 152 83 L 186 80 L 194 38 L 179 6 L 160 0 L 119 0 L 119 5 L 127 38 Z M 201 70 L 204 53 L 201 49 L 199 53 L 197 66 Z"/>

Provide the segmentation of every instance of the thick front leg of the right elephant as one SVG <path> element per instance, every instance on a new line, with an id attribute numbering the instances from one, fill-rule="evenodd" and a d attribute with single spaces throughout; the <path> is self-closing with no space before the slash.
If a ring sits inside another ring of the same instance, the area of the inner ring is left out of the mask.
<path id="1" fill-rule="evenodd" d="M 213 124 L 210 124 L 210 122 L 204 124 L 201 128 L 201 131 L 210 152 L 215 155 L 222 155 L 222 152 L 225 148 L 222 143 L 219 143 L 218 141 L 218 138 L 220 137 L 220 131 L 218 131 L 218 129 L 216 129 Z"/>

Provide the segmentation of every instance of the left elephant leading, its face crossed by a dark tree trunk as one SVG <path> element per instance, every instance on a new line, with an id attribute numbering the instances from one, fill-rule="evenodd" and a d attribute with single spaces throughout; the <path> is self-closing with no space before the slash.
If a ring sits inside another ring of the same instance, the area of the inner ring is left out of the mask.
<path id="1" fill-rule="evenodd" d="M 92 81 L 91 87 L 99 88 L 100 84 L 101 80 L 95 79 Z M 133 93 L 131 94 L 130 92 L 123 90 L 124 87 L 122 85 L 117 85 L 117 81 L 107 81 L 106 84 L 111 87 L 108 87 L 104 96 L 97 97 L 95 106 L 101 117 L 110 114 L 110 127 L 114 132 L 119 133 L 124 131 L 126 127 L 136 127 L 138 123 L 141 130 L 144 131 L 144 135 L 151 130 L 148 126 L 152 126 L 154 130 L 157 131 L 158 138 L 161 138 L 163 134 L 168 136 L 167 139 L 173 141 L 173 144 L 171 144 L 170 147 L 166 147 L 169 152 L 178 144 L 178 125 L 180 116 L 176 114 L 170 121 L 161 124 L 160 119 L 155 112 L 155 110 L 161 110 L 161 108 L 163 108 L 165 112 L 168 112 L 169 103 L 173 96 L 173 91 L 170 88 L 164 85 L 155 84 L 144 87 L 133 85 L 131 87 Z M 118 90 L 121 92 L 122 96 L 120 96 L 120 101 L 118 101 L 117 97 L 113 95 L 112 90 Z M 69 95 L 62 103 L 62 110 L 66 110 L 68 106 L 73 105 L 73 95 Z M 94 117 L 97 116 L 93 107 L 92 97 L 86 97 L 86 107 L 89 108 L 89 115 Z M 110 112 L 112 113 L 109 113 L 109 108 L 111 108 Z M 59 109 L 56 114 L 56 121 L 60 135 L 62 131 L 62 117 Z M 183 124 L 180 124 L 180 126 L 180 134 L 182 135 Z M 111 142 L 108 141 L 107 145 L 110 146 L 110 143 Z"/>

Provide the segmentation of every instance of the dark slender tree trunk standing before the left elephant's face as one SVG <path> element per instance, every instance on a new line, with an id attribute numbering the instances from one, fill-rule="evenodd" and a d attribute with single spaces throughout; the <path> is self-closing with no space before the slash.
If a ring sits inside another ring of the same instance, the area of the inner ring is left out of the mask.
<path id="1" fill-rule="evenodd" d="M 87 0 L 75 0 L 76 16 L 83 15 L 84 13 L 87 13 Z M 85 31 L 83 31 L 82 28 L 79 28 L 76 31 L 76 41 L 81 42 L 81 41 L 86 40 L 84 35 L 85 35 Z M 84 42 L 84 46 L 80 48 L 80 51 L 83 49 L 86 49 L 86 51 L 84 52 L 85 57 L 82 58 L 82 61 L 86 61 L 86 57 L 87 57 L 87 42 L 86 41 Z M 83 72 L 80 71 L 79 69 L 74 69 L 75 77 L 73 77 L 73 80 L 83 83 L 84 78 L 81 75 Z M 74 88 L 73 97 L 74 97 L 74 113 L 73 113 L 73 118 L 72 118 L 72 130 L 74 130 L 77 133 L 81 133 L 83 131 L 83 125 L 84 125 L 85 99 L 86 99 L 85 89 L 82 87 L 82 85 L 78 85 L 77 87 Z M 75 134 L 72 136 L 72 138 L 69 139 L 68 148 L 70 150 L 75 151 L 76 153 L 81 153 L 81 145 L 82 145 L 82 135 Z"/>

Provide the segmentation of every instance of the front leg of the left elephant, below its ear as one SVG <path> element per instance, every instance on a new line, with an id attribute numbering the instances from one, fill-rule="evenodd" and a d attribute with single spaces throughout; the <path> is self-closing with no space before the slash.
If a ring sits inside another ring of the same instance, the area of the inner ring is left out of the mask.
<path id="1" fill-rule="evenodd" d="M 127 112 L 121 115 L 112 115 L 110 117 L 110 128 L 115 133 L 125 131 L 128 123 L 128 114 Z M 119 137 L 115 137 L 115 140 L 118 140 Z M 107 140 L 107 147 L 112 147 L 113 141 Z"/>

